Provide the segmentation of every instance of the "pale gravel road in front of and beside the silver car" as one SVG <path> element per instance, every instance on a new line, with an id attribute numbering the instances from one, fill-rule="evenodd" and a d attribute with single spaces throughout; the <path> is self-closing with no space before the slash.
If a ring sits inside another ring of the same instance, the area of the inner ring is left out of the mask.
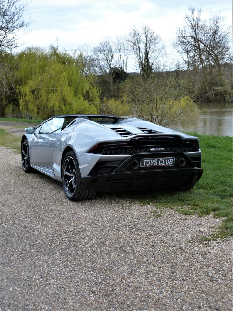
<path id="1" fill-rule="evenodd" d="M 232 310 L 232 239 L 201 244 L 221 220 L 99 195 L 25 174 L 0 147 L 0 309 Z"/>

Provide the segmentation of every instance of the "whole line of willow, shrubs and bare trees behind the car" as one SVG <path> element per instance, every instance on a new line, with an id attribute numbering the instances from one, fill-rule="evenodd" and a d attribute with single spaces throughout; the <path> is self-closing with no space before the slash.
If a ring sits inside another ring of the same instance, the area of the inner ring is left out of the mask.
<path id="1" fill-rule="evenodd" d="M 18 107 L 29 118 L 56 114 L 135 115 L 162 125 L 194 116 L 198 101 L 233 101 L 229 31 L 220 15 L 201 20 L 190 7 L 168 57 L 147 25 L 72 53 L 58 46 L 19 53 L 0 46 L 0 116 Z M 128 72 L 129 59 L 135 73 Z"/>

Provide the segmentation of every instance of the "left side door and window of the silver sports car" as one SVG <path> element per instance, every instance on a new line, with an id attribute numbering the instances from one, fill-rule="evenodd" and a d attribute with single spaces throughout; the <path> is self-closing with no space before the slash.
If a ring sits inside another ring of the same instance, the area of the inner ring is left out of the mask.
<path id="1" fill-rule="evenodd" d="M 30 146 L 30 161 L 32 165 L 53 167 L 53 150 L 55 142 L 62 136 L 64 118 L 58 117 L 43 123 L 35 131 Z"/>

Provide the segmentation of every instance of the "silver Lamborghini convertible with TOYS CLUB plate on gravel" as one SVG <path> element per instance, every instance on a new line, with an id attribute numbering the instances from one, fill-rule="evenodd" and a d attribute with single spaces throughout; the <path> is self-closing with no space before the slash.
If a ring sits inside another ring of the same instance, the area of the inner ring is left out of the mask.
<path id="1" fill-rule="evenodd" d="M 200 179 L 199 140 L 137 118 L 76 114 L 49 118 L 26 128 L 23 169 L 63 184 L 70 200 L 97 191 L 161 189 L 185 191 Z"/>

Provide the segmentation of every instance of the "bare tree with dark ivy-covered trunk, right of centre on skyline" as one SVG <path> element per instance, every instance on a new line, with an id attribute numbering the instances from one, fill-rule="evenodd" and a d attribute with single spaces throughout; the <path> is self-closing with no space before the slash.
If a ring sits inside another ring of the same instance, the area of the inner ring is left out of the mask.
<path id="1" fill-rule="evenodd" d="M 158 59 L 162 46 L 160 36 L 148 25 L 141 28 L 134 28 L 128 35 L 127 41 L 130 45 L 131 53 L 136 59 L 139 72 L 144 78 L 150 76 L 153 67 Z"/>

